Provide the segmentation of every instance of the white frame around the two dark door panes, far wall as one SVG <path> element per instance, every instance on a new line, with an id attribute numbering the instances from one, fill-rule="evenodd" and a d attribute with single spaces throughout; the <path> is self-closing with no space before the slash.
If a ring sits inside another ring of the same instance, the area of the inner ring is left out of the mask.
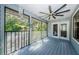
<path id="1" fill-rule="evenodd" d="M 53 36 L 53 25 L 58 24 L 58 36 Z M 61 37 L 61 32 L 60 32 L 60 27 L 61 24 L 67 24 L 67 37 Z M 69 21 L 62 21 L 62 22 L 54 22 L 52 23 L 52 37 L 58 38 L 58 39 L 64 39 L 64 40 L 69 40 Z"/>

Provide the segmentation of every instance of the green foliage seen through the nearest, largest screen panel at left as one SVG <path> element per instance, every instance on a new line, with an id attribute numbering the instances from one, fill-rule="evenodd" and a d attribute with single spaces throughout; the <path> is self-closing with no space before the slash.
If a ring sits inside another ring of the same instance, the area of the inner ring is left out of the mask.
<path id="1" fill-rule="evenodd" d="M 28 23 L 20 21 L 15 15 L 6 13 L 5 31 L 27 31 Z"/>

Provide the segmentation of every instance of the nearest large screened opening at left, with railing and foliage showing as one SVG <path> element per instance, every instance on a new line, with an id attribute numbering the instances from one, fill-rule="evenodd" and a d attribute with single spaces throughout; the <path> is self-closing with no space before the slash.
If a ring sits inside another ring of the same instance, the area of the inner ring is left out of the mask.
<path id="1" fill-rule="evenodd" d="M 29 16 L 23 18 L 15 10 L 5 8 L 5 54 L 10 54 L 27 45 Z"/>

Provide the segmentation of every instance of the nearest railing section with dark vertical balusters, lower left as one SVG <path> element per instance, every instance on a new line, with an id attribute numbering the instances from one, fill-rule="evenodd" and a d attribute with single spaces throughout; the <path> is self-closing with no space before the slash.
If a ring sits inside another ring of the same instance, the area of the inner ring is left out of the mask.
<path id="1" fill-rule="evenodd" d="M 29 32 L 5 31 L 5 54 L 9 54 L 28 45 Z"/>

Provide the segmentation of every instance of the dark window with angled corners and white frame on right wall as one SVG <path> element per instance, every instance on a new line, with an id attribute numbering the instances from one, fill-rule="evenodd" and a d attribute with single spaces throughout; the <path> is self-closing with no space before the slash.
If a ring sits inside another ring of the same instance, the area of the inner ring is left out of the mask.
<path id="1" fill-rule="evenodd" d="M 73 37 L 79 41 L 79 11 L 73 17 Z"/>

